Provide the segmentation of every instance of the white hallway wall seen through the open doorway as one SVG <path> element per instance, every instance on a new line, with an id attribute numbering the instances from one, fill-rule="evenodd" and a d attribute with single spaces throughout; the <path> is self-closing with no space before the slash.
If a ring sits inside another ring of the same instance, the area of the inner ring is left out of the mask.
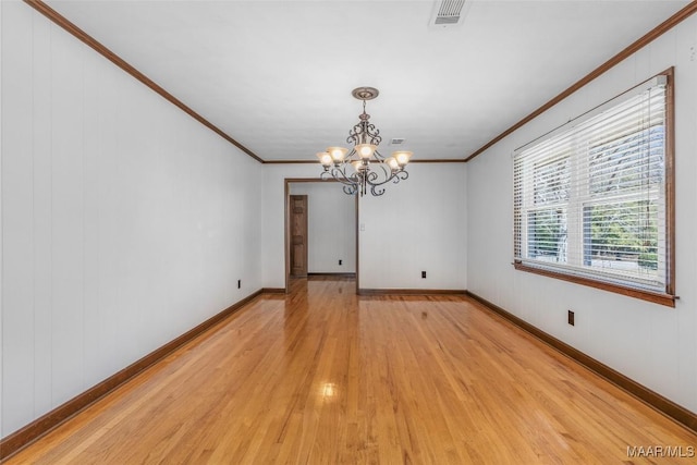
<path id="1" fill-rule="evenodd" d="M 355 273 L 356 197 L 337 183 L 291 183 L 290 191 L 307 195 L 307 272 Z"/>

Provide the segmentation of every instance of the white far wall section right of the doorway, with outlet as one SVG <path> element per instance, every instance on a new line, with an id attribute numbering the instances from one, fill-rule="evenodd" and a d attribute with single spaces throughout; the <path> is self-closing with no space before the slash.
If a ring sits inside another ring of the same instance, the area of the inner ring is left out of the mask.
<path id="1" fill-rule="evenodd" d="M 359 208 L 360 289 L 467 289 L 464 163 L 413 163 Z M 426 279 L 421 279 L 426 271 Z"/>

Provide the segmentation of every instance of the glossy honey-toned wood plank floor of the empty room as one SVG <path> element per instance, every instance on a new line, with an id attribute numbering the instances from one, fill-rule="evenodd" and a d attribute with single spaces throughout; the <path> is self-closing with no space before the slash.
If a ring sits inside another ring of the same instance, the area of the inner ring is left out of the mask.
<path id="1" fill-rule="evenodd" d="M 608 464 L 697 436 L 464 296 L 293 282 L 9 464 Z M 694 450 L 694 449 L 693 449 Z"/>

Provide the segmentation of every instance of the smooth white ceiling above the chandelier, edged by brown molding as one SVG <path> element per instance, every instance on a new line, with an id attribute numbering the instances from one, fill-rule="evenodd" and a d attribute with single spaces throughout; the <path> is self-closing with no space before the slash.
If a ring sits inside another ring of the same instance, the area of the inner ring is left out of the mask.
<path id="1" fill-rule="evenodd" d="M 47 3 L 261 159 L 314 160 L 358 86 L 382 146 L 464 159 L 688 1 L 467 0 L 451 29 L 433 0 Z"/>

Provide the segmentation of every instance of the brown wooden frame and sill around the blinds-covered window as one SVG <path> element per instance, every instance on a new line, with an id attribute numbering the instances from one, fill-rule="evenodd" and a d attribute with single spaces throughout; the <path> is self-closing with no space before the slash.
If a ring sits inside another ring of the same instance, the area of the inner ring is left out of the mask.
<path id="1" fill-rule="evenodd" d="M 664 305 L 668 307 L 675 307 L 675 299 L 678 298 L 675 295 L 675 172 L 674 172 L 674 163 L 675 163 L 675 132 L 674 132 L 674 69 L 670 68 L 655 76 L 650 79 L 656 78 L 658 76 L 665 76 L 665 117 L 664 117 L 664 139 L 665 139 L 665 152 L 664 152 L 664 198 L 665 198 L 665 255 L 663 257 L 665 264 L 665 276 L 664 276 L 664 292 L 656 292 L 647 289 L 635 287 L 626 284 L 621 284 L 617 282 L 613 282 L 611 280 L 604 280 L 599 276 L 578 276 L 573 273 L 571 270 L 564 271 L 563 269 L 553 268 L 553 267 L 545 267 L 545 266 L 531 266 L 527 265 L 523 261 L 522 258 L 514 258 L 513 266 L 516 270 L 531 272 L 535 274 L 540 274 L 549 278 L 554 278 L 567 282 L 573 282 L 576 284 L 587 285 L 596 289 L 601 289 L 604 291 L 640 298 L 644 301 L 652 302 L 656 304 Z M 650 81 L 648 79 L 648 81 Z M 636 86 L 635 86 L 636 87 Z M 632 89 L 634 89 L 633 87 Z M 632 89 L 627 90 L 631 91 Z M 622 95 L 622 94 L 621 94 Z M 565 123 L 560 126 L 560 129 L 567 126 L 571 123 L 574 123 L 578 119 L 584 118 L 584 115 L 592 112 L 599 107 L 604 106 L 606 103 L 614 100 L 620 97 L 617 95 L 612 99 L 607 100 L 600 106 L 589 110 L 588 112 L 577 117 L 576 119 Z M 559 130 L 559 129 L 558 129 Z M 555 132 L 557 130 L 552 131 Z M 536 139 L 543 140 L 543 138 L 548 137 L 550 133 L 541 136 Z M 529 145 L 529 144 L 526 144 Z M 518 151 L 517 149 L 516 151 Z M 572 174 L 574 175 L 574 174 Z M 586 182 L 588 182 L 586 180 Z M 514 257 L 517 256 L 518 250 L 516 249 L 516 242 L 521 241 L 524 235 L 522 235 L 522 229 L 524 227 L 529 227 L 527 221 L 522 222 L 519 220 L 519 216 L 523 213 L 522 210 L 522 199 L 516 197 L 516 184 L 515 180 L 513 181 L 513 234 L 514 234 Z M 527 195 L 537 195 L 535 189 L 524 191 L 521 193 L 522 196 Z M 518 211 L 521 209 L 521 211 Z M 583 237 L 583 235 L 582 235 Z M 583 250 L 583 246 L 582 246 Z"/>

